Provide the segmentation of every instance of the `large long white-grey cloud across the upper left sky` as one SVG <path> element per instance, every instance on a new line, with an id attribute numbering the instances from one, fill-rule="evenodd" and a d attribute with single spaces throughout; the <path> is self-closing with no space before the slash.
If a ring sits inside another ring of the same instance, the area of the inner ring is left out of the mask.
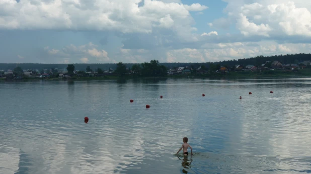
<path id="1" fill-rule="evenodd" d="M 151 33 L 154 27 L 191 28 L 189 11 L 207 9 L 177 1 L 144 0 L 13 0 L 0 1 L 0 29 L 56 29 Z M 186 31 L 186 30 L 184 30 Z M 183 32 L 184 32 L 183 31 Z"/>

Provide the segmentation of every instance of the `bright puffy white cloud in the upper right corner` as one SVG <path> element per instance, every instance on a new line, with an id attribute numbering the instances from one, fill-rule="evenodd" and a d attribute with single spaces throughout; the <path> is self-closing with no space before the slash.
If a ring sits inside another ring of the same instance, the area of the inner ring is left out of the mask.
<path id="1" fill-rule="evenodd" d="M 311 37 L 311 3 L 302 0 L 225 0 L 227 19 L 245 36 L 274 35 Z M 217 21 L 217 20 L 216 20 Z M 222 21 L 222 22 L 221 22 Z M 215 23 L 213 23 L 215 26 Z"/>

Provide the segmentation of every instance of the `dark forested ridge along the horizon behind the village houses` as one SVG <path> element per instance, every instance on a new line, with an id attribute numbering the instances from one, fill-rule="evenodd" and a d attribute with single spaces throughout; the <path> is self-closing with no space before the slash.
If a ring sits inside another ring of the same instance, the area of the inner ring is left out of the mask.
<path id="1" fill-rule="evenodd" d="M 252 58 L 246 58 L 246 59 L 238 59 L 238 60 L 226 60 L 226 61 L 219 61 L 219 62 L 204 62 L 204 63 L 158 63 L 158 66 L 164 66 L 167 69 L 172 68 L 178 68 L 178 67 L 189 67 L 192 69 L 196 69 L 199 66 L 204 66 L 207 69 L 214 69 L 214 66 L 226 66 L 226 67 L 232 67 L 235 65 L 254 65 L 254 66 L 260 66 L 261 64 L 266 63 L 267 61 L 279 61 L 282 64 L 299 64 L 303 61 L 311 60 L 311 54 L 291 54 L 291 55 L 275 55 L 275 56 L 257 56 Z M 154 60 L 153 60 L 154 61 Z M 119 64 L 119 63 L 118 63 Z M 94 70 L 116 70 L 118 68 L 118 64 L 110 63 L 110 64 L 74 64 L 75 70 L 84 71 L 87 66 L 94 68 Z M 150 65 L 151 64 L 151 65 Z M 122 66 L 125 66 L 127 69 L 136 69 L 136 72 L 139 72 L 139 74 L 157 74 L 160 69 L 154 69 L 152 66 L 153 63 L 142 63 L 142 64 L 131 64 L 131 63 L 122 63 Z M 17 66 L 22 67 L 23 69 L 66 69 L 67 64 L 31 64 L 31 63 L 22 63 L 22 64 L 4 64 L 0 63 L 0 70 L 13 70 Z M 137 67 L 138 66 L 138 67 Z M 211 66 L 211 67 L 210 67 Z M 147 68 L 152 69 L 152 73 L 149 71 L 146 71 Z M 215 67 L 216 68 L 216 67 Z M 123 68 L 124 69 L 124 68 Z M 154 72 L 153 72 L 154 71 Z"/>

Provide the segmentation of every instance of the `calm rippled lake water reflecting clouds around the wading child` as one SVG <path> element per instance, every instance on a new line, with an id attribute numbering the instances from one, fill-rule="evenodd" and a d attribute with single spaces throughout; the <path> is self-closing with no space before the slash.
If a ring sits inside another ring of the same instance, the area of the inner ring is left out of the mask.
<path id="1" fill-rule="evenodd" d="M 310 102 L 311 78 L 1 82 L 0 173 L 309 173 Z"/>

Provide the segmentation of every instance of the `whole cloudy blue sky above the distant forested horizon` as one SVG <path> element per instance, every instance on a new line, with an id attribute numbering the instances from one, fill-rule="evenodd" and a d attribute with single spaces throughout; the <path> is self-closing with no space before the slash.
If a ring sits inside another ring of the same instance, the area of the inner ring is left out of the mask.
<path id="1" fill-rule="evenodd" d="M 310 50 L 305 0 L 0 0 L 0 63 L 215 62 Z"/>

